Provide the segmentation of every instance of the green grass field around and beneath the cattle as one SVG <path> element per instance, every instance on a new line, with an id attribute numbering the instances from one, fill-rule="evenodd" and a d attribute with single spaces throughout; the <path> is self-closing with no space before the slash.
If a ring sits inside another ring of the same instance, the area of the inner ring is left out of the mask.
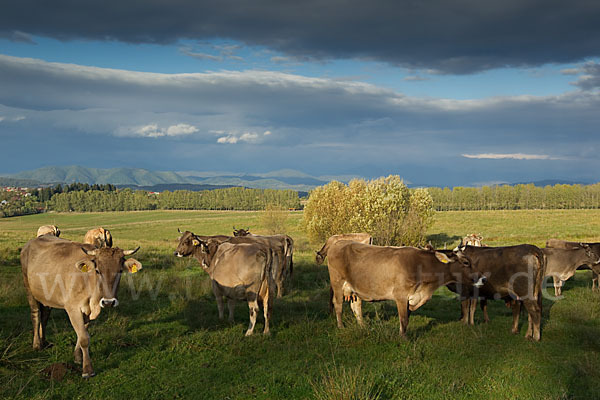
<path id="1" fill-rule="evenodd" d="M 207 275 L 195 259 L 173 256 L 177 228 L 229 234 L 233 225 L 260 233 L 260 213 L 177 212 L 42 214 L 0 219 L 0 397 L 92 399 L 590 399 L 600 398 L 600 295 L 591 273 L 565 284 L 564 299 L 544 300 L 540 343 L 510 334 L 511 311 L 491 302 L 489 324 L 461 325 L 459 303 L 445 288 L 411 315 L 398 336 L 391 302 L 365 304 L 360 328 L 344 306 L 346 328 L 328 313 L 328 274 L 314 264 L 316 246 L 288 220 L 295 239 L 294 280 L 277 299 L 271 337 L 243 336 L 248 307 L 238 303 L 234 324 L 220 321 Z M 96 226 L 115 245 L 141 246 L 144 269 L 121 281 L 120 305 L 90 324 L 97 376 L 83 380 L 73 363 L 75 333 L 54 310 L 48 339 L 31 349 L 29 307 L 19 248 L 40 225 L 81 240 Z M 489 245 L 547 238 L 600 241 L 600 211 L 494 211 L 436 214 L 430 239 L 439 247 L 481 233 Z M 257 331 L 262 330 L 259 317 Z M 64 376 L 51 379 L 51 365 Z"/>

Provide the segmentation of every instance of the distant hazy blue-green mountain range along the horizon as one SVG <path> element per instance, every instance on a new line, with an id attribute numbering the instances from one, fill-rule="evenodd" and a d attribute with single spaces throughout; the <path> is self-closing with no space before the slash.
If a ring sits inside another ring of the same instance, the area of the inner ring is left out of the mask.
<path id="1" fill-rule="evenodd" d="M 25 186 L 35 187 L 40 185 L 55 185 L 58 183 L 111 183 L 119 187 L 131 187 L 149 191 L 161 192 L 164 190 L 206 190 L 242 186 L 257 189 L 291 189 L 299 192 L 308 192 L 317 186 L 327 184 L 332 180 L 349 182 L 353 175 L 325 175 L 312 176 L 293 169 L 282 169 L 267 173 L 235 173 L 217 171 L 149 171 L 140 168 L 86 168 L 81 166 L 68 167 L 43 167 L 17 174 L 0 176 L 0 186 Z M 556 184 L 591 184 L 594 182 L 567 181 L 560 179 L 547 179 L 533 183 L 536 186 Z M 512 183 L 516 185 L 518 183 Z M 407 183 L 408 184 L 408 183 Z M 509 183 L 498 183 L 509 184 Z M 489 186 L 491 184 L 487 184 Z M 409 187 L 426 187 L 430 185 L 408 184 Z M 474 186 L 480 186 L 475 184 Z"/>

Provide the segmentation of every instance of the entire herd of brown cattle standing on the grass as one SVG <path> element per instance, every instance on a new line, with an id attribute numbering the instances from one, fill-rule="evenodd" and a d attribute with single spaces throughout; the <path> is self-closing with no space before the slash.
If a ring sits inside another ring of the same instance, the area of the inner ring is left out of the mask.
<path id="1" fill-rule="evenodd" d="M 252 335 L 262 306 L 264 334 L 269 334 L 274 297 L 284 295 L 293 273 L 294 241 L 287 235 L 259 236 L 235 229 L 233 236 L 201 236 L 181 232 L 174 255 L 195 257 L 208 273 L 219 318 L 227 299 L 233 321 L 236 300 L 246 301 Z M 133 250 L 113 248 L 110 232 L 103 228 L 86 233 L 83 242 L 60 238 L 56 226 L 46 225 L 21 251 L 21 266 L 33 323 L 33 348 L 48 345 L 46 324 L 52 308 L 65 309 L 77 334 L 74 358 L 83 363 L 82 376 L 94 376 L 89 356 L 88 323 L 104 307 L 118 305 L 122 272 L 136 273 L 142 264 Z M 487 300 L 504 300 L 512 308 L 512 332 L 518 333 L 521 307 L 528 314 L 526 337 L 541 339 L 542 289 L 546 277 L 554 280 L 561 296 L 564 281 L 577 269 L 593 271 L 592 289 L 598 289 L 600 243 L 550 239 L 545 248 L 529 244 L 506 247 L 482 245 L 481 237 L 461 240 L 453 250 L 374 246 L 366 233 L 334 235 L 316 252 L 315 261 L 327 258 L 330 310 L 342 327 L 342 305 L 350 307 L 363 324 L 362 301 L 394 300 L 400 334 L 405 335 L 411 311 L 425 304 L 435 290 L 448 287 L 461 299 L 461 321 L 473 325 L 477 302 L 489 321 Z M 58 289 L 58 290 L 57 290 Z"/>

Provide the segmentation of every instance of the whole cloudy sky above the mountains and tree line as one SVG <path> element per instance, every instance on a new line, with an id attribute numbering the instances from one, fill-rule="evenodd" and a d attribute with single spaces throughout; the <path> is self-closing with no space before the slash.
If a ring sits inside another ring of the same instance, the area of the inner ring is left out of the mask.
<path id="1" fill-rule="evenodd" d="M 0 173 L 600 181 L 600 2 L 56 0 L 0 13 Z"/>

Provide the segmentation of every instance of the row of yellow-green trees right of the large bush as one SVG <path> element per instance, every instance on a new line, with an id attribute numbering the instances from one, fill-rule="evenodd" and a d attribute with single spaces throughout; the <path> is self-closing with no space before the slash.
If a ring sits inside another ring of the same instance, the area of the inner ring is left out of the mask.
<path id="1" fill-rule="evenodd" d="M 600 183 L 429 188 L 437 211 L 600 208 Z"/>

